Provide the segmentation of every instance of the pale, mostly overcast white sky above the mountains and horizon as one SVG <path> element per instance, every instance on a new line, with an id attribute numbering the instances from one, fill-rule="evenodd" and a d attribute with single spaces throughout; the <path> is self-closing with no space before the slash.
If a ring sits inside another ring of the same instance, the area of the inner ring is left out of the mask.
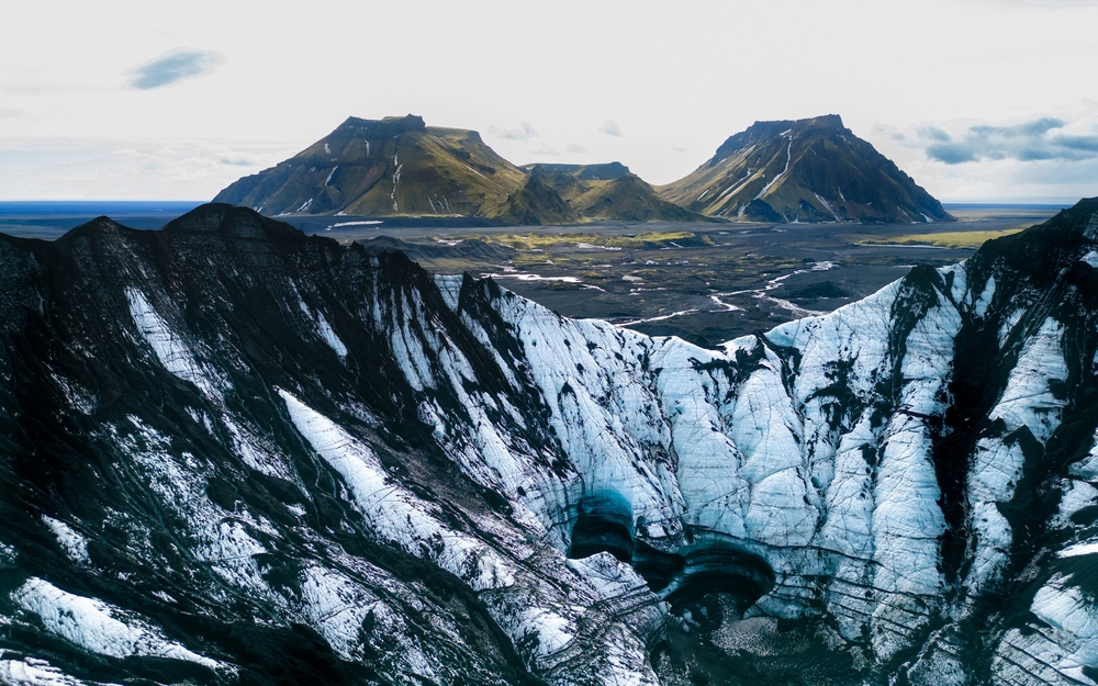
<path id="1" fill-rule="evenodd" d="M 833 113 L 943 202 L 1098 195 L 1098 0 L 37 0 L 0 25 L 0 201 L 209 200 L 408 113 L 653 184 Z"/>

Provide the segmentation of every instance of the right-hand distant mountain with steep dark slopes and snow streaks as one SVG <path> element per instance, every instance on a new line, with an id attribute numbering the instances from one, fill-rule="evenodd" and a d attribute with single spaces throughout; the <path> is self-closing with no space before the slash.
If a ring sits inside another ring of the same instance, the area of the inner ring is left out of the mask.
<path id="1" fill-rule="evenodd" d="M 759 222 L 954 221 L 836 114 L 755 122 L 693 173 L 658 189 L 693 212 Z"/>

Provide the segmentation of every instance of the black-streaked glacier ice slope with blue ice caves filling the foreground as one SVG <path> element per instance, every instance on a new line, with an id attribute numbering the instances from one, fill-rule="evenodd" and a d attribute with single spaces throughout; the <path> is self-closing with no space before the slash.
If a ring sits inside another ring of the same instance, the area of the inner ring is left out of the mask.
<path id="1" fill-rule="evenodd" d="M 224 204 L 0 265 L 0 682 L 1098 677 L 1098 200 L 720 351 Z"/>

